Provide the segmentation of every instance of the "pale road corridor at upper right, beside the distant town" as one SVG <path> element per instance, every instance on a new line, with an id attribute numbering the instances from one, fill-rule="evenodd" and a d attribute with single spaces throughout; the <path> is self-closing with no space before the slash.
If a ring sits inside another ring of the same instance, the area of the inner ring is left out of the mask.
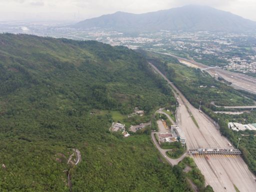
<path id="1" fill-rule="evenodd" d="M 231 82 L 232 83 L 231 86 L 233 86 L 234 88 L 246 90 L 248 92 L 256 94 L 256 78 L 252 76 L 248 76 L 246 74 L 242 74 L 238 72 L 223 70 L 217 67 L 209 67 L 208 65 L 202 64 L 200 62 L 182 58 L 170 53 L 163 53 L 163 52 L 157 52 L 157 51 L 154 51 L 154 52 L 177 58 L 180 63 L 183 63 L 190 67 L 200 68 L 203 71 L 207 71 L 211 76 L 214 76 L 215 74 L 217 74 L 218 76 L 221 76 L 225 80 Z"/>

